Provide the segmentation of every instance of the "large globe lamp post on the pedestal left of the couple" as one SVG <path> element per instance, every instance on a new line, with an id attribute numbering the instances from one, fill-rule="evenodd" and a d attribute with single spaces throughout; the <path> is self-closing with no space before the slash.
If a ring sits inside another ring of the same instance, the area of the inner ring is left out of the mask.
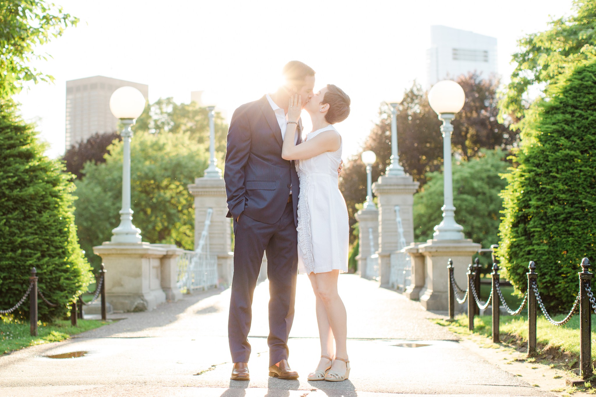
<path id="1" fill-rule="evenodd" d="M 120 210 L 120 224 L 112 230 L 113 243 L 140 243 L 141 230 L 132 224 L 131 210 L 131 125 L 135 123 L 145 109 L 145 98 L 134 87 L 120 87 L 111 95 L 110 110 L 114 117 L 124 124 L 122 135 L 122 210 Z"/>

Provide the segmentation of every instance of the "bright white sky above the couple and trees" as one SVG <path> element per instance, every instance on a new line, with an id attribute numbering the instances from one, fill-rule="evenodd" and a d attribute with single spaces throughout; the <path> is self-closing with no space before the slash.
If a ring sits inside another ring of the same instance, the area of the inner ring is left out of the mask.
<path id="1" fill-rule="evenodd" d="M 108 76 L 149 85 L 151 102 L 209 90 L 228 117 L 238 105 L 273 92 L 285 62 L 316 71 L 352 99 L 337 129 L 344 158 L 358 150 L 381 102 L 426 79 L 430 26 L 445 25 L 498 39 L 498 70 L 524 33 L 547 28 L 549 15 L 569 14 L 572 0 L 133 1 L 54 0 L 80 18 L 75 28 L 40 48 L 53 59 L 35 66 L 55 77 L 17 96 L 35 120 L 48 155 L 64 152 L 66 81 Z M 303 114 L 303 120 L 308 114 Z M 308 121 L 305 126 L 308 128 Z M 438 132 L 437 132 L 438 133 Z"/>

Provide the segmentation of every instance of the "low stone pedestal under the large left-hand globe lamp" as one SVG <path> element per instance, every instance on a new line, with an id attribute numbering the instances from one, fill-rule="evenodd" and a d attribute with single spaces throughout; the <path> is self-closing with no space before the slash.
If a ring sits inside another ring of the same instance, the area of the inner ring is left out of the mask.
<path id="1" fill-rule="evenodd" d="M 172 261 L 179 255 L 175 245 L 104 242 L 93 247 L 105 265 L 106 300 L 116 311 L 150 311 L 166 301 L 162 282 L 171 299 L 179 299 Z M 162 263 L 162 260 L 165 262 Z M 164 266 L 162 266 L 164 264 Z M 163 274 L 167 280 L 163 280 Z"/>

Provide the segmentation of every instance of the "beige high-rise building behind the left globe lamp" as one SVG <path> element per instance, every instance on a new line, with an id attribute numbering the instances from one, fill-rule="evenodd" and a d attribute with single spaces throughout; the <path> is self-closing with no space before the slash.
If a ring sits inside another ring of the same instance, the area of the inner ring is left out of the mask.
<path id="1" fill-rule="evenodd" d="M 111 114 L 110 96 L 123 86 L 135 87 L 147 99 L 145 84 L 94 76 L 66 82 L 66 150 L 96 132 L 114 132 L 118 119 Z"/>

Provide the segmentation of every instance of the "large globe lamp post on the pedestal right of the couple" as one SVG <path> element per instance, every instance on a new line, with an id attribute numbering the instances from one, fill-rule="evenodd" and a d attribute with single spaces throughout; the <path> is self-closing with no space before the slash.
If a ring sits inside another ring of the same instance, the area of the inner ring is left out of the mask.
<path id="1" fill-rule="evenodd" d="M 462 240 L 464 239 L 464 228 L 455 221 L 455 207 L 453 205 L 453 181 L 451 171 L 451 133 L 453 126 L 451 120 L 455 113 L 464 107 L 465 93 L 462 87 L 452 81 L 443 80 L 436 83 L 429 92 L 430 107 L 439 115 L 443 121 L 441 132 L 443 133 L 443 198 L 444 204 L 443 220 L 434 227 L 434 239 L 436 240 Z"/>

